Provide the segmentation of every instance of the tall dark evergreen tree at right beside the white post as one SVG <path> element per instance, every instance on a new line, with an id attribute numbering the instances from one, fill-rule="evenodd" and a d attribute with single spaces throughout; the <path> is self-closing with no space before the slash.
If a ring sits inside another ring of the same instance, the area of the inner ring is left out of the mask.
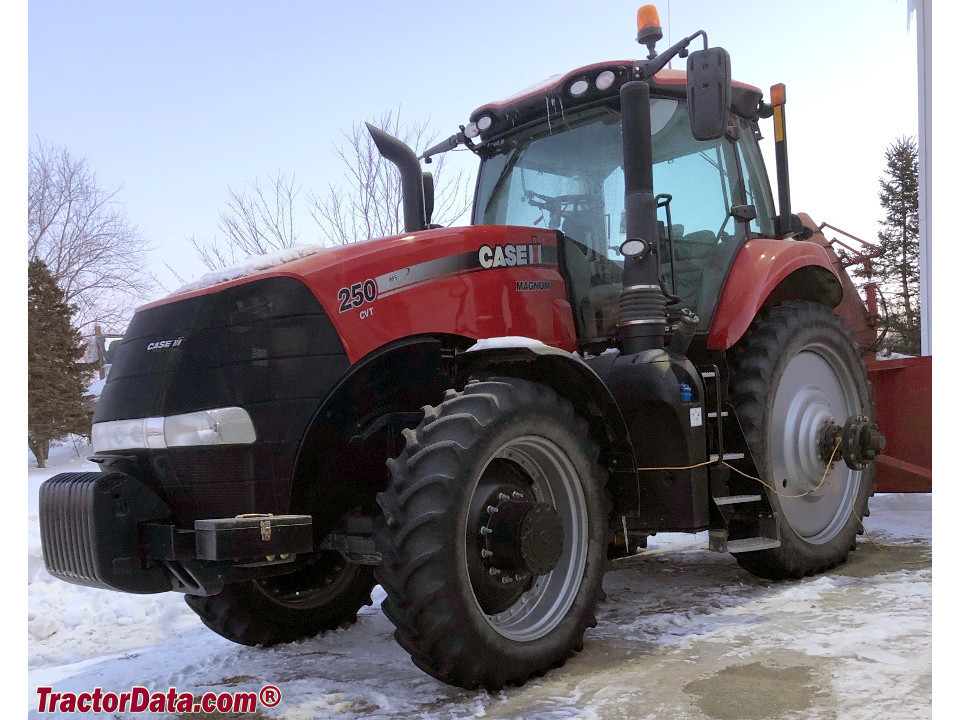
<path id="1" fill-rule="evenodd" d="M 887 169 L 880 178 L 880 223 L 883 256 L 874 274 L 888 294 L 890 332 L 886 349 L 920 354 L 920 219 L 917 143 L 898 138 L 886 150 Z"/>

